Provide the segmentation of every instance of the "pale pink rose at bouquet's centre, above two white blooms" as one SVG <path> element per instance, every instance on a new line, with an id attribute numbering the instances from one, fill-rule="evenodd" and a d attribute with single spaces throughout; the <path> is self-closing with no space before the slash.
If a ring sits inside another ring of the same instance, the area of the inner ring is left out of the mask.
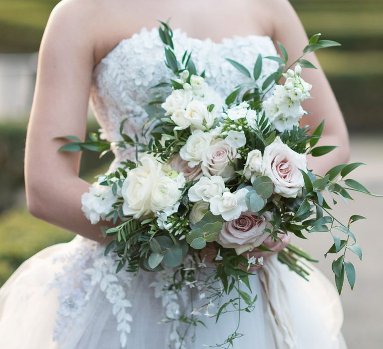
<path id="1" fill-rule="evenodd" d="M 230 162 L 238 157 L 237 150 L 230 147 L 225 140 L 212 144 L 202 153 L 202 172 L 205 176 L 219 175 L 228 180 L 234 175 Z"/>

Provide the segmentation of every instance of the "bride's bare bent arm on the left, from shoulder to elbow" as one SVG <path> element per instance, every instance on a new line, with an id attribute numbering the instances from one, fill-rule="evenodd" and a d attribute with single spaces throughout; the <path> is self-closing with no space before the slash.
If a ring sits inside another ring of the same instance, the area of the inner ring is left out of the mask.
<path id="1" fill-rule="evenodd" d="M 74 135 L 84 139 L 94 65 L 92 13 L 70 2 L 56 7 L 41 42 L 36 88 L 25 149 L 25 185 L 29 211 L 36 217 L 90 239 L 100 229 L 81 211 L 89 184 L 78 177 L 80 153 L 57 150 Z"/>

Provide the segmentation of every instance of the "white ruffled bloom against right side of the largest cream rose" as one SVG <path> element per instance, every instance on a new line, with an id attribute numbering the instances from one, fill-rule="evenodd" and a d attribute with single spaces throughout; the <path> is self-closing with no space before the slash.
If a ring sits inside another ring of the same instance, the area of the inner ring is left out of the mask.
<path id="1" fill-rule="evenodd" d="M 179 174 L 176 178 L 163 176 L 153 185 L 150 209 L 152 212 L 165 210 L 175 205 L 181 198 L 181 189 L 185 185 L 185 177 Z"/>

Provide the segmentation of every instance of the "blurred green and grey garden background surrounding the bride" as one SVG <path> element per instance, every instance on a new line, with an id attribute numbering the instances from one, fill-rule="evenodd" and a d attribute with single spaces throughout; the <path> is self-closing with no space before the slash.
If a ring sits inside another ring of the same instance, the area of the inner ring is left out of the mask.
<path id="1" fill-rule="evenodd" d="M 267 1 L 267 0 L 265 0 Z M 25 208 L 23 152 L 36 74 L 37 51 L 56 0 L 0 0 L 0 285 L 25 259 L 45 246 L 68 241 L 72 234 L 33 218 Z M 292 0 L 309 35 L 321 31 L 342 47 L 318 57 L 338 98 L 351 135 L 352 159 L 368 167 L 355 172 L 373 192 L 383 194 L 383 0 Z M 326 116 L 328 117 L 328 116 Z M 97 130 L 90 115 L 89 131 Z M 91 178 L 105 166 L 96 154 L 83 156 L 81 175 Z M 383 343 L 383 199 L 340 203 L 344 220 L 358 213 L 369 218 L 355 225 L 364 261 L 353 260 L 357 284 L 345 286 L 344 334 L 349 349 L 377 349 Z M 299 241 L 321 258 L 319 268 L 331 279 L 323 253 L 331 237 L 318 234 Z"/>

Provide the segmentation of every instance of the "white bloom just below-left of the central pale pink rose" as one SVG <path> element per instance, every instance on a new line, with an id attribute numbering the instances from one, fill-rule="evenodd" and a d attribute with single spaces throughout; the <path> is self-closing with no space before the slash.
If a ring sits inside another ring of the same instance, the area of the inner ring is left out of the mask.
<path id="1" fill-rule="evenodd" d="M 213 175 L 210 178 L 201 177 L 189 189 L 189 200 L 192 202 L 197 202 L 199 200 L 208 202 L 213 196 L 221 195 L 224 188 L 225 183 L 219 175 Z"/>

